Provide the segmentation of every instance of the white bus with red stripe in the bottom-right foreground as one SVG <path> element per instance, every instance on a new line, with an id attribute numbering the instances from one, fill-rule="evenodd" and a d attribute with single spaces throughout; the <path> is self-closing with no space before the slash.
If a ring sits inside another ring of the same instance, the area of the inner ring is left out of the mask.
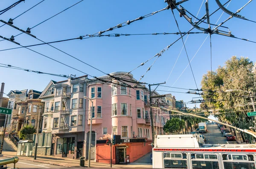
<path id="1" fill-rule="evenodd" d="M 195 135 L 156 135 L 153 168 L 256 169 L 255 144 L 204 144 Z"/>

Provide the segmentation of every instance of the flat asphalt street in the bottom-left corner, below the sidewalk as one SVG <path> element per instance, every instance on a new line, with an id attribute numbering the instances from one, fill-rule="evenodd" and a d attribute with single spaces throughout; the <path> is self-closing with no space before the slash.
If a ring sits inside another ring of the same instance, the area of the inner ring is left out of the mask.
<path id="1" fill-rule="evenodd" d="M 6 159 L 4 157 L 1 157 L 0 160 Z M 13 163 L 7 165 L 8 169 L 13 168 Z M 20 169 L 27 169 L 27 168 L 63 168 L 61 166 L 55 166 L 45 163 L 38 163 L 33 161 L 27 161 L 27 160 L 20 160 L 16 163 L 16 167 L 19 167 Z"/>

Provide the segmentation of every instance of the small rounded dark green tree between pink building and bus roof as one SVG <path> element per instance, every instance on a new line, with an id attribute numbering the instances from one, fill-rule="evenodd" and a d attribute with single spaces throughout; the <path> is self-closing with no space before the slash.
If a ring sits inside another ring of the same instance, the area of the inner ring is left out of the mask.
<path id="1" fill-rule="evenodd" d="M 185 127 L 185 121 L 180 118 L 172 118 L 167 120 L 166 124 L 163 126 L 163 131 L 167 134 L 178 134 Z"/>

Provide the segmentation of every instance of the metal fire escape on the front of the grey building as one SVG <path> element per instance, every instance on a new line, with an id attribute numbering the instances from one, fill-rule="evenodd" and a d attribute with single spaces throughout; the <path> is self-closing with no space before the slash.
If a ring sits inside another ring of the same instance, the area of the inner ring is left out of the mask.
<path id="1" fill-rule="evenodd" d="M 60 111 L 61 123 L 59 129 L 69 129 L 69 116 L 70 116 L 70 97 L 71 93 L 67 93 L 67 88 L 63 89 L 63 95 L 61 95 L 62 107 Z M 63 105 L 64 102 L 64 105 Z"/>

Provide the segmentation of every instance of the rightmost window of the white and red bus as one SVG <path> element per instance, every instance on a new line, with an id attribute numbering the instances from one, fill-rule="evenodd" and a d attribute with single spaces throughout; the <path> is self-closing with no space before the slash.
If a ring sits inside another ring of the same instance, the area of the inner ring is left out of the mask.
<path id="1" fill-rule="evenodd" d="M 222 159 L 224 169 L 256 169 L 253 155 L 223 154 Z"/>

